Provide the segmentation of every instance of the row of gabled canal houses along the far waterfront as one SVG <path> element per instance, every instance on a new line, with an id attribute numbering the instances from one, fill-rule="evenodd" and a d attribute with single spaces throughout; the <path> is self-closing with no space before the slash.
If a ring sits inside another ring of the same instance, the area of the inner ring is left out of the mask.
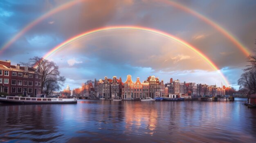
<path id="1" fill-rule="evenodd" d="M 112 79 L 105 77 L 104 79 L 95 79 L 94 83 L 95 95 L 99 98 L 113 99 L 116 97 L 131 100 L 145 99 L 147 97 L 169 97 L 169 95 L 179 95 L 179 97 L 191 96 L 217 96 L 225 95 L 225 87 L 209 86 L 206 84 L 195 84 L 180 82 L 179 80 L 170 79 L 170 82 L 164 84 L 163 80 L 158 77 L 149 76 L 145 81 L 140 81 L 137 77 L 136 81 L 132 81 L 132 76 L 127 75 L 125 82 L 121 77 Z"/>

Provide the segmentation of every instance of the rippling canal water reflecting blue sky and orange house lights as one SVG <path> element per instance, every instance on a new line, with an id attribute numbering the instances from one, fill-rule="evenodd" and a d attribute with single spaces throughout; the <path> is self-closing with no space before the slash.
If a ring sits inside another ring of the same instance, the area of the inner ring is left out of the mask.
<path id="1" fill-rule="evenodd" d="M 256 142 L 256 108 L 244 101 L 0 104 L 0 142 Z"/>

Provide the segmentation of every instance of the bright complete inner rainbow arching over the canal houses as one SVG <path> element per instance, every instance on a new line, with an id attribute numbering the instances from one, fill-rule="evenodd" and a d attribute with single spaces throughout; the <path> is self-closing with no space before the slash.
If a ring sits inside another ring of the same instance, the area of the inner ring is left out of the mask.
<path id="1" fill-rule="evenodd" d="M 44 59 L 49 58 L 50 56 L 52 56 L 54 53 L 56 53 L 57 51 L 60 51 L 61 49 L 63 49 L 66 45 L 81 39 L 82 37 L 94 34 L 94 33 L 99 33 L 102 31 L 110 31 L 110 30 L 139 30 L 139 31 L 146 31 L 146 32 L 150 32 L 150 33 L 154 33 L 157 35 L 161 35 L 164 36 L 168 39 L 174 40 L 184 46 L 186 46 L 187 48 L 189 48 L 191 51 L 195 52 L 196 54 L 198 54 L 205 62 L 207 62 L 207 64 L 209 64 L 211 66 L 211 68 L 213 68 L 214 70 L 217 70 L 218 73 L 220 74 L 220 76 L 222 77 L 223 81 L 225 82 L 225 84 L 227 86 L 229 86 L 229 82 L 227 81 L 226 77 L 221 73 L 220 69 L 218 69 L 218 67 L 206 56 L 204 55 L 201 51 L 199 51 L 197 48 L 191 46 L 190 44 L 188 44 L 187 42 L 179 39 L 178 37 L 175 37 L 171 34 L 165 33 L 163 31 L 159 31 L 156 29 L 150 29 L 150 28 L 146 28 L 146 27 L 140 27 L 140 26 L 109 26 L 109 27 L 103 27 L 103 28 L 99 28 L 99 29 L 94 29 L 91 31 L 86 31 L 84 33 L 81 33 L 79 35 L 76 35 L 74 37 L 71 37 L 70 39 L 62 42 L 61 44 L 59 44 L 58 46 L 52 48 L 47 54 L 45 54 L 43 56 Z"/>

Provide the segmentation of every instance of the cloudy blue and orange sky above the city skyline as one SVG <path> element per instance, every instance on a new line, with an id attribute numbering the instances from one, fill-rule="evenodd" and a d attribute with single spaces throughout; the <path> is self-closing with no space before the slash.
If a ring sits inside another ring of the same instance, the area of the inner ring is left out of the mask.
<path id="1" fill-rule="evenodd" d="M 54 61 L 66 78 L 62 89 L 127 75 L 238 89 L 256 48 L 255 7 L 255 0 L 1 0 L 0 60 Z M 81 33 L 117 26 L 142 28 L 85 34 L 46 56 Z"/>

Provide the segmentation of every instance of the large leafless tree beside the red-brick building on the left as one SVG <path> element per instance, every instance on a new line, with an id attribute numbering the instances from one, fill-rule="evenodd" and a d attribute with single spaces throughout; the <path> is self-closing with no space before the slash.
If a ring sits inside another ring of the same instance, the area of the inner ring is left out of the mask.
<path id="1" fill-rule="evenodd" d="M 42 57 L 36 56 L 30 58 L 29 62 L 21 62 L 21 64 L 33 69 L 36 74 L 42 76 L 41 89 L 46 95 L 51 94 L 52 91 L 60 90 L 66 80 L 65 77 L 60 76 L 58 66 L 54 62 Z"/>

